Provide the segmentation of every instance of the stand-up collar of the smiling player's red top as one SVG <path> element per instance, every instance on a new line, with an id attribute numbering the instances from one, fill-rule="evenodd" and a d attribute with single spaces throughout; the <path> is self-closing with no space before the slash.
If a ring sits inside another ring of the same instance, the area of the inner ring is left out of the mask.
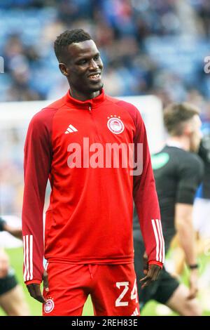
<path id="1" fill-rule="evenodd" d="M 96 98 L 91 98 L 90 100 L 80 101 L 76 98 L 72 98 L 70 95 L 70 91 L 66 93 L 66 101 L 67 103 L 71 103 L 74 107 L 78 107 L 80 109 L 90 110 L 93 107 L 98 107 L 102 102 L 104 102 L 106 95 L 104 93 L 104 89 L 100 91 L 100 94 Z"/>

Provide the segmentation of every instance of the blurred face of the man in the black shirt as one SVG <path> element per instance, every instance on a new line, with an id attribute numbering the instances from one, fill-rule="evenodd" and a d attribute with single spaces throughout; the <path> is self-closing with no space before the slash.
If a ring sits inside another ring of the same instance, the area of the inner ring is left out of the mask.
<path id="1" fill-rule="evenodd" d="M 202 132 L 201 132 L 202 121 L 198 114 L 190 121 L 190 151 L 197 152 L 200 147 L 200 142 L 202 139 Z"/>

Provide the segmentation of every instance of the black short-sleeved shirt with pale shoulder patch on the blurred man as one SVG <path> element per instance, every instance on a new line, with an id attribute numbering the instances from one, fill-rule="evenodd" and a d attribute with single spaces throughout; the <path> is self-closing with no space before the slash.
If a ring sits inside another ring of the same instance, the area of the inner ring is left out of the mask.
<path id="1" fill-rule="evenodd" d="M 175 204 L 193 204 L 203 176 L 203 162 L 197 154 L 179 147 L 165 146 L 152 156 L 156 190 L 160 204 L 165 250 L 174 237 Z M 135 230 L 138 229 L 138 234 Z M 139 220 L 134 210 L 134 239 L 139 236 Z"/>

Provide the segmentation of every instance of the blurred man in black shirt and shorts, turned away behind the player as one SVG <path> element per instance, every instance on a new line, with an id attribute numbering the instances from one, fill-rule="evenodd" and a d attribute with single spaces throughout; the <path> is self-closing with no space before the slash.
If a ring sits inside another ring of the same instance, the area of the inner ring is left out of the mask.
<path id="1" fill-rule="evenodd" d="M 160 203 L 162 230 L 166 253 L 177 234 L 189 268 L 189 289 L 162 270 L 157 282 L 149 288 L 139 284 L 139 300 L 144 306 L 149 300 L 167 305 L 180 315 L 201 315 L 197 295 L 197 261 L 193 230 L 193 200 L 202 180 L 203 164 L 195 154 L 200 145 L 201 121 L 196 107 L 188 103 L 169 105 L 164 112 L 169 133 L 167 145 L 152 158 L 156 189 Z M 144 242 L 139 238 L 138 216 L 134 213 L 134 250 L 137 275 L 144 270 Z"/>

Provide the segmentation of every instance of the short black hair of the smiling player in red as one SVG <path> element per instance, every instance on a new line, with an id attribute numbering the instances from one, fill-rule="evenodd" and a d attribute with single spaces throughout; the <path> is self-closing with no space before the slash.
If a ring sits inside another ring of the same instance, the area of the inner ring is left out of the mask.
<path id="1" fill-rule="evenodd" d="M 62 61 L 64 50 L 67 46 L 73 44 L 73 42 L 82 42 L 86 40 L 92 40 L 90 34 L 85 32 L 83 29 L 67 29 L 60 34 L 54 43 L 54 50 L 57 60 Z"/>

